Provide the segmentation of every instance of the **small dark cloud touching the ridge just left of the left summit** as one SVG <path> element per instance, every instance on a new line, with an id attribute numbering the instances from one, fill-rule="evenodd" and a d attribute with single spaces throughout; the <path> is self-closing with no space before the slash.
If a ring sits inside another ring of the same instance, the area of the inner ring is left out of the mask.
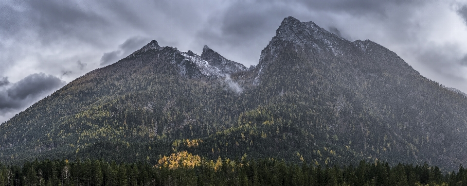
<path id="1" fill-rule="evenodd" d="M 117 62 L 118 60 L 125 58 L 127 55 L 141 49 L 147 44 L 149 39 L 143 37 L 132 37 L 127 39 L 123 44 L 118 46 L 116 51 L 104 53 L 101 57 L 101 66 L 106 66 Z"/>

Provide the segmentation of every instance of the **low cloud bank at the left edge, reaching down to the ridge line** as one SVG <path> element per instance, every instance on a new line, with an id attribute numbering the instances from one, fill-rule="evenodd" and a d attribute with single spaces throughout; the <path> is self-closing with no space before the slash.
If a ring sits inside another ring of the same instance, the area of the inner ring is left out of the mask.
<path id="1" fill-rule="evenodd" d="M 0 82 L 8 82 L 1 78 Z M 36 101 L 66 85 L 59 78 L 44 73 L 31 74 L 18 82 L 0 86 L 0 118 L 6 120 Z"/>

